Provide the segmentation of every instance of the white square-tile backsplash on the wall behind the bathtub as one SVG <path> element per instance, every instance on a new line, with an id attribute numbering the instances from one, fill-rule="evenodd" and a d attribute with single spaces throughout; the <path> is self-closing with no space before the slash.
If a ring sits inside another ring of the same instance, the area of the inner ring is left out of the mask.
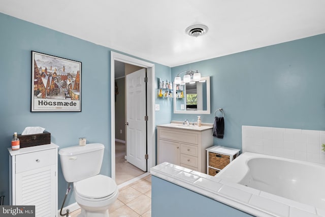
<path id="1" fill-rule="evenodd" d="M 243 152 L 325 164 L 325 131 L 242 126 Z"/>

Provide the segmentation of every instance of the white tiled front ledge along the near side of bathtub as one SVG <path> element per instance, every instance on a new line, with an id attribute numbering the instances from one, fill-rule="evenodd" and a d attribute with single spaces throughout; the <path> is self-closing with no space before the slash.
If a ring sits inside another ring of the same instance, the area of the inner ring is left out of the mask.
<path id="1" fill-rule="evenodd" d="M 150 173 L 158 178 L 165 179 L 198 194 L 209 197 L 249 214 L 261 217 L 282 216 L 322 216 L 325 210 L 310 207 L 298 209 L 298 202 L 283 200 L 281 202 L 266 198 L 266 193 L 254 191 L 243 185 L 224 181 L 214 176 L 193 171 L 170 163 L 162 163 L 150 169 Z M 215 183 L 215 184 L 213 184 Z M 240 194 L 232 194 L 234 192 Z M 286 203 L 288 201 L 288 203 Z M 294 205 L 293 205 L 294 204 Z M 304 206 L 302 206 L 304 207 Z"/>

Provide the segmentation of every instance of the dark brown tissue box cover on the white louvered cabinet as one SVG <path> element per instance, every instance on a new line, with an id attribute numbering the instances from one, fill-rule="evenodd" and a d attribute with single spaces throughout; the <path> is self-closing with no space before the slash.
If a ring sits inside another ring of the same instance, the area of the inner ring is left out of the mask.
<path id="1" fill-rule="evenodd" d="M 44 133 L 30 134 L 30 135 L 17 135 L 20 140 L 20 148 L 46 145 L 51 143 L 51 133 L 44 131 Z"/>

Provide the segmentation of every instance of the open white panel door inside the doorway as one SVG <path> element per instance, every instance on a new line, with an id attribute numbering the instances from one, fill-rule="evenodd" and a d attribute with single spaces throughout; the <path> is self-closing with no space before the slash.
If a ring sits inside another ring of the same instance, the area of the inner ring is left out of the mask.
<path id="1" fill-rule="evenodd" d="M 126 159 L 147 170 L 146 144 L 146 69 L 126 75 Z"/>

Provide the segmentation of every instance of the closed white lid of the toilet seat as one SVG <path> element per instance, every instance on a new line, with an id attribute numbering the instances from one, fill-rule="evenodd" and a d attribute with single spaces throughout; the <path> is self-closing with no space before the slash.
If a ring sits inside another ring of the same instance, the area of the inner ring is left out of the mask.
<path id="1" fill-rule="evenodd" d="M 85 198 L 104 198 L 113 194 L 117 189 L 115 181 L 105 175 L 95 175 L 81 181 L 75 185 L 78 195 Z"/>

